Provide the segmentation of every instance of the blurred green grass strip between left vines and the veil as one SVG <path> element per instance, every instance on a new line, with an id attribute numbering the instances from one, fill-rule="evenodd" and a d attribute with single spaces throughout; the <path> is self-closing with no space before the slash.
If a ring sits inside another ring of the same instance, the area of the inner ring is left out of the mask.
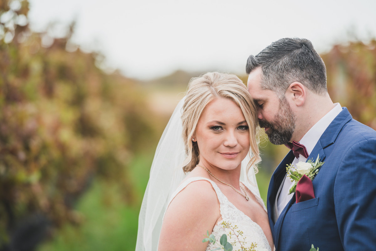
<path id="1" fill-rule="evenodd" d="M 77 204 L 80 226 L 64 224 L 39 251 L 134 251 L 139 207 L 127 205 L 118 184 L 98 181 Z"/>

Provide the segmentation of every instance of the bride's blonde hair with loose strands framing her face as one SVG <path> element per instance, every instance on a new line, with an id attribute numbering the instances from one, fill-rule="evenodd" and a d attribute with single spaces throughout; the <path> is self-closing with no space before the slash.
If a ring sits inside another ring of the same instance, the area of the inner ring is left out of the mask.
<path id="1" fill-rule="evenodd" d="M 184 172 L 190 172 L 199 164 L 200 152 L 196 142 L 191 139 L 202 111 L 209 102 L 217 97 L 230 99 L 243 112 L 249 127 L 250 161 L 248 170 L 253 166 L 257 173 L 256 164 L 261 160 L 258 149 L 257 129 L 258 119 L 256 105 L 247 87 L 235 75 L 219 72 L 208 72 L 198 78 L 192 78 L 188 84 L 185 102 L 182 108 L 183 141 L 187 158 L 183 163 Z"/>

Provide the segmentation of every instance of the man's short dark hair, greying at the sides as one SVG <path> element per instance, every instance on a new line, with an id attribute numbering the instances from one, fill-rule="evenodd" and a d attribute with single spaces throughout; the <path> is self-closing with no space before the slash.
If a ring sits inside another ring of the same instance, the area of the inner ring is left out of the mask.
<path id="1" fill-rule="evenodd" d="M 311 41 L 304 38 L 281 38 L 256 56 L 250 55 L 246 72 L 261 67 L 261 87 L 272 90 L 282 99 L 293 82 L 300 82 L 317 94 L 327 93 L 326 68 Z"/>

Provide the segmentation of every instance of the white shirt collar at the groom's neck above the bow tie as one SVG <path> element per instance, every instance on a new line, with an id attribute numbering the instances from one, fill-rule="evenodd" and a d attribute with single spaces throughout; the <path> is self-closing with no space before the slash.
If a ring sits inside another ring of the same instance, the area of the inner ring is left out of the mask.
<path id="1" fill-rule="evenodd" d="M 306 147 L 308 155 L 311 154 L 321 135 L 341 111 L 342 107 L 340 103 L 335 103 L 334 108 L 325 114 L 324 117 L 318 120 L 315 125 L 313 125 L 311 129 L 309 129 L 308 132 L 306 132 L 306 134 L 302 137 L 299 143 Z M 303 156 L 300 156 L 299 161 L 302 161 L 302 158 L 305 159 Z"/>

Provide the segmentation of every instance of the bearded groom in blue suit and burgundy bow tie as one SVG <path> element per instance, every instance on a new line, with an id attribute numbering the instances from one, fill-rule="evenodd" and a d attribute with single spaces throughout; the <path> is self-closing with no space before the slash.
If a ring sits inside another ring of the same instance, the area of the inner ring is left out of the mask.
<path id="1" fill-rule="evenodd" d="M 312 244 L 323 251 L 376 250 L 376 131 L 332 102 L 324 62 L 309 40 L 282 38 L 249 56 L 246 70 L 259 125 L 271 143 L 297 150 L 269 184 L 276 250 L 308 251 Z M 306 189 L 312 197 L 297 202 L 286 165 L 317 156 L 324 164 Z"/>

